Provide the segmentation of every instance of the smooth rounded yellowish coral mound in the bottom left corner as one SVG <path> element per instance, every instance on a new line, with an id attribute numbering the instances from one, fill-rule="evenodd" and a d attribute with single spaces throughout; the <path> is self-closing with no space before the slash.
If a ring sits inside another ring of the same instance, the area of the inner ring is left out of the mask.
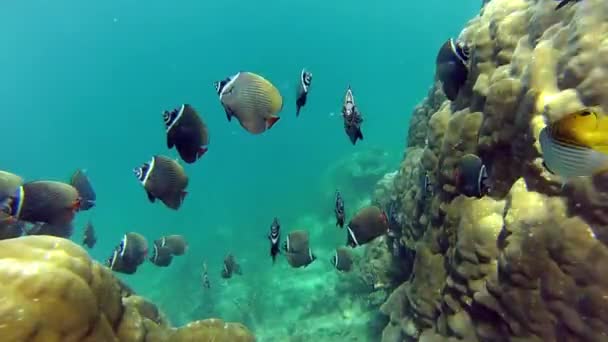
<path id="1" fill-rule="evenodd" d="M 4 342 L 255 341 L 244 326 L 216 319 L 170 327 L 84 249 L 52 236 L 0 241 L 0 293 Z"/>

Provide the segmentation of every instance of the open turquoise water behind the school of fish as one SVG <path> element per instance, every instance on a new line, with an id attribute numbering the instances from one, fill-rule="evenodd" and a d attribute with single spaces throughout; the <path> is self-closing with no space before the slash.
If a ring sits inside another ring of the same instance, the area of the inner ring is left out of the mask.
<path id="1" fill-rule="evenodd" d="M 185 235 L 190 250 L 170 268 L 146 263 L 121 276 L 177 324 L 206 314 L 238 319 L 221 306 L 195 315 L 180 304 L 230 301 L 221 292 L 230 286 L 249 284 L 270 292 L 266 301 L 303 306 L 306 298 L 275 294 L 281 289 L 271 284 L 303 274 L 302 281 L 323 283 L 331 270 L 328 253 L 344 234 L 327 224 L 333 203 L 324 194 L 334 189 L 321 180 L 328 168 L 369 147 L 387 151 L 387 169 L 398 168 L 411 110 L 433 81 L 437 48 L 479 7 L 472 0 L 5 1 L 0 168 L 28 180 L 65 180 L 86 168 L 98 204 L 76 222 L 81 227 L 92 218 L 98 244 L 91 254 L 98 260 L 127 231 L 150 241 Z M 303 67 L 314 79 L 296 118 Z M 283 94 L 282 119 L 262 135 L 227 122 L 218 102 L 213 81 L 239 70 L 264 75 Z M 365 118 L 365 140 L 356 146 L 337 115 L 349 84 Z M 211 143 L 201 160 L 185 166 L 189 195 L 172 211 L 149 203 L 131 170 L 153 154 L 177 157 L 166 148 L 161 112 L 183 102 L 200 111 Z M 317 226 L 305 228 L 326 248 L 319 247 L 323 262 L 273 268 L 265 234 L 274 216 L 283 234 L 306 224 L 303 217 L 317 217 L 309 219 Z M 225 282 L 219 269 L 228 251 L 242 260 L 245 275 Z M 214 282 L 210 294 L 200 288 L 203 260 Z M 318 291 L 327 295 L 333 287 Z M 264 310 L 266 318 L 251 327 L 256 333 L 276 322 L 293 324 Z"/>

